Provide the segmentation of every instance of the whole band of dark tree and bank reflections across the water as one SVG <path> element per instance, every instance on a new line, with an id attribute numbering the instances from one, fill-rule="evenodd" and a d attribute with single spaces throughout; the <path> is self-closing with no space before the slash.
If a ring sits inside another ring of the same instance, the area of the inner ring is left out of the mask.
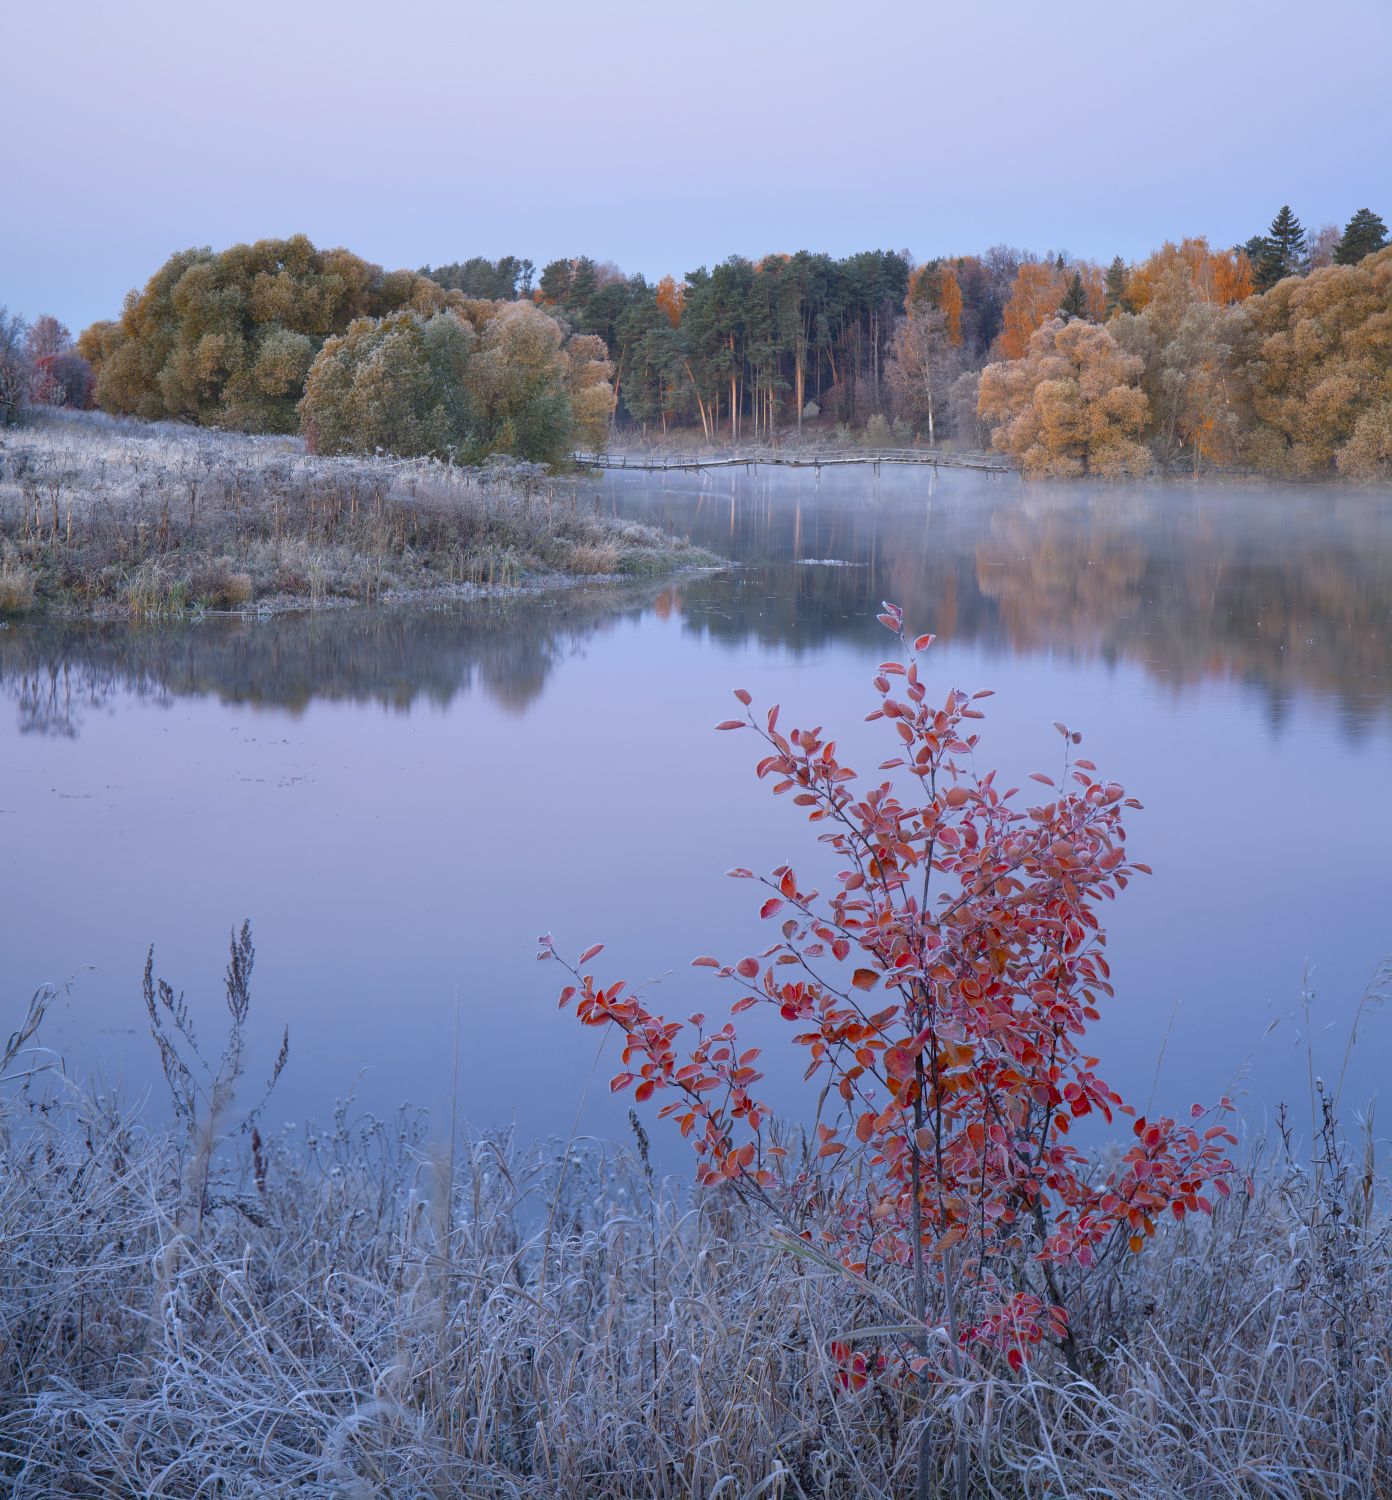
<path id="1" fill-rule="evenodd" d="M 0 630 L 20 728 L 74 735 L 122 694 L 214 694 L 297 711 L 393 708 L 478 688 L 524 712 L 620 620 L 681 620 L 712 640 L 879 651 L 894 598 L 944 642 L 1134 662 L 1182 690 L 1226 678 L 1274 718 L 1334 698 L 1348 734 L 1392 702 L 1392 500 L 1316 488 L 1029 486 L 921 471 L 836 482 L 756 471 L 684 483 L 608 476 L 622 513 L 742 564 L 668 586 L 591 586 L 489 604 L 210 618 L 183 627 L 30 622 Z M 813 560 L 854 564 L 808 566 Z"/>

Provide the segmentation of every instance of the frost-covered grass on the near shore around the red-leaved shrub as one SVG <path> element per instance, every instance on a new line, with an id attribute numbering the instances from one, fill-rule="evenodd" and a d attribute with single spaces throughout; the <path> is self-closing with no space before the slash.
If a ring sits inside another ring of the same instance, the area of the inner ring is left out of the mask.
<path id="1" fill-rule="evenodd" d="M 40 1029 L 8 1048 L 15 1500 L 861 1500 L 912 1494 L 924 1430 L 942 1496 L 1392 1494 L 1389 1224 L 1332 1122 L 1314 1167 L 1256 1152 L 1250 1194 L 1074 1304 L 1084 1378 L 1048 1354 L 1023 1376 L 944 1358 L 924 1388 L 891 1358 L 844 1390 L 828 1344 L 874 1306 L 726 1192 L 657 1182 L 640 1132 L 634 1150 L 430 1149 L 418 1118 L 346 1110 L 243 1130 L 218 1082 L 242 1071 L 238 993 L 201 1089 L 166 1053 L 172 1124 L 34 1072 Z M 150 994 L 190 1058 L 192 1022 Z"/>

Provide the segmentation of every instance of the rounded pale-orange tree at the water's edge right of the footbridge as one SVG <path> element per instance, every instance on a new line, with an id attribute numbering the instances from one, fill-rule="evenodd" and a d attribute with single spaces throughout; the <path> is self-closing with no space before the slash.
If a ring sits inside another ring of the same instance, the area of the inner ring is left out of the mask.
<path id="1" fill-rule="evenodd" d="M 992 446 L 1038 477 L 1102 478 L 1144 474 L 1150 454 L 1137 442 L 1150 404 L 1142 362 L 1090 322 L 1050 320 L 1023 358 L 987 364 L 978 411 L 993 424 Z"/>

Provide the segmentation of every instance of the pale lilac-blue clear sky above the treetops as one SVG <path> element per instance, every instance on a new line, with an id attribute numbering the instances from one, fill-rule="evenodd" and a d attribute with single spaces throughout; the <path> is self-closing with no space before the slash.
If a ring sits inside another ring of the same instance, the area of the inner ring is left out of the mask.
<path id="1" fill-rule="evenodd" d="M 74 332 L 300 231 L 660 276 L 1392 220 L 1392 0 L 0 0 L 0 303 Z"/>

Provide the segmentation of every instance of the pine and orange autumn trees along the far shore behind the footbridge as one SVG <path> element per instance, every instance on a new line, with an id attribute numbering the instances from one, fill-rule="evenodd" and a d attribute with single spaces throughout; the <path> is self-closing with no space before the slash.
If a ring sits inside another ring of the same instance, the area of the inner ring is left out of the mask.
<path id="1" fill-rule="evenodd" d="M 590 256 L 422 274 L 534 300 L 603 339 L 615 424 L 644 435 L 777 441 L 834 423 L 994 446 L 1038 474 L 1240 462 L 1370 477 L 1392 447 L 1386 244 L 1370 208 L 1306 236 L 1286 206 L 1245 244 L 1167 242 L 1106 267 L 994 246 L 926 264 L 730 256 L 656 282 Z"/>

